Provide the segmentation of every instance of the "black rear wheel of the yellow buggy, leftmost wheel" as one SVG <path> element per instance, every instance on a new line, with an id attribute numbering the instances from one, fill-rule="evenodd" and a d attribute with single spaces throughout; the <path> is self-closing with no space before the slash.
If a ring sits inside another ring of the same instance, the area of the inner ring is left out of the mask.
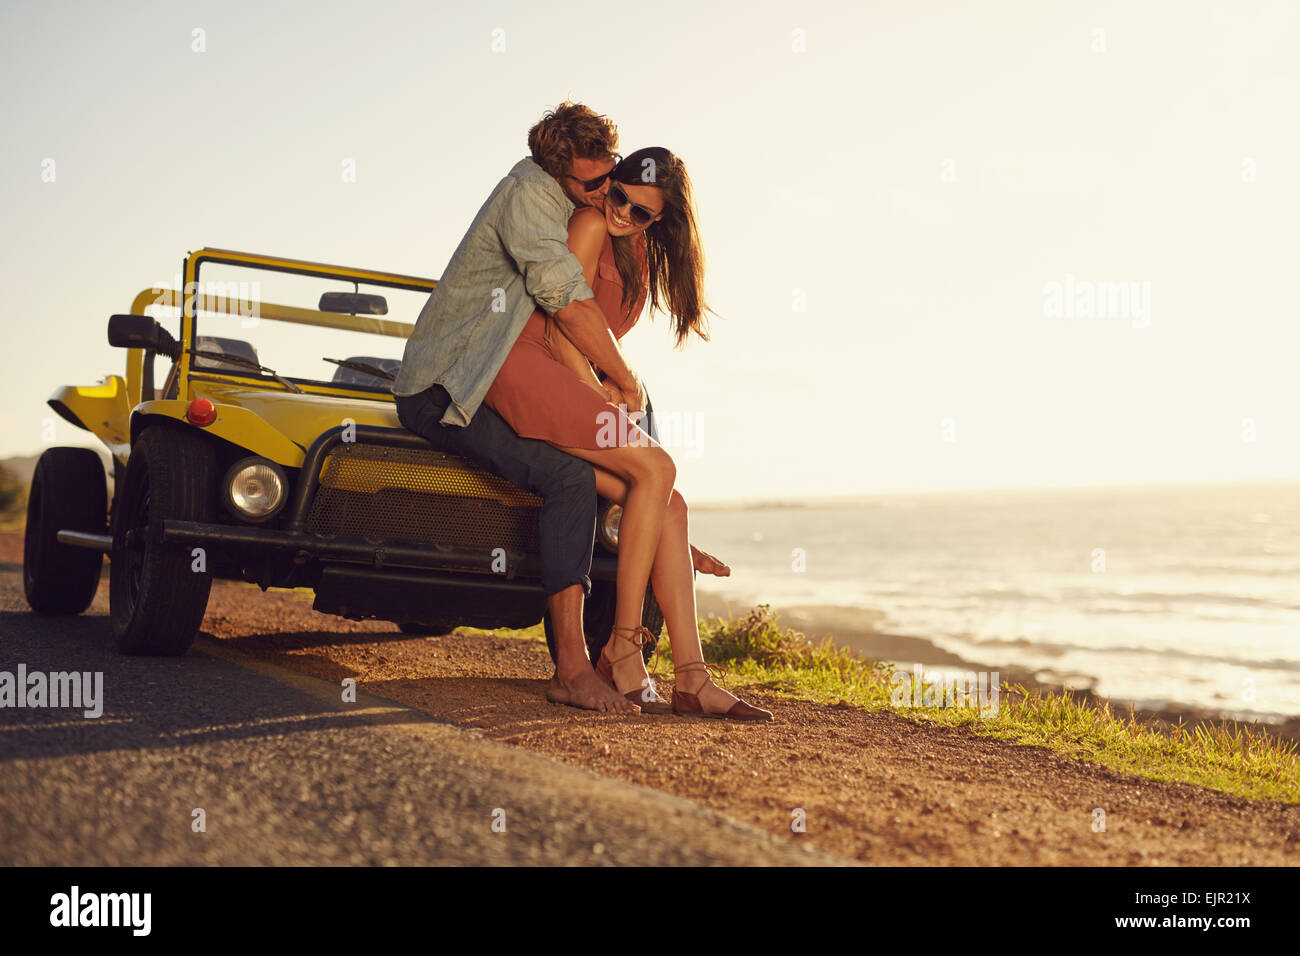
<path id="1" fill-rule="evenodd" d="M 81 614 L 99 589 L 104 555 L 61 545 L 60 531 L 108 529 L 108 480 L 92 449 L 47 449 L 31 476 L 22 588 L 38 614 Z"/>

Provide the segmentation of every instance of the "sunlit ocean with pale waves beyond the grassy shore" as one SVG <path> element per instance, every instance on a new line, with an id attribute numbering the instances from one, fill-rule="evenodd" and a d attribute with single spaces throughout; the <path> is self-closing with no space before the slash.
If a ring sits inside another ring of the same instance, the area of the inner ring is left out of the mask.
<path id="1" fill-rule="evenodd" d="M 732 567 L 697 587 L 733 609 L 852 609 L 866 628 L 1143 708 L 1300 715 L 1300 484 L 892 494 L 690 520 Z"/>

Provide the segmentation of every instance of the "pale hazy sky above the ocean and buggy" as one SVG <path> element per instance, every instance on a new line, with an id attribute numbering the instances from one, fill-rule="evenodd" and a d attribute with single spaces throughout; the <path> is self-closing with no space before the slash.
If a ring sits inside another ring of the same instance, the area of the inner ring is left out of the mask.
<path id="1" fill-rule="evenodd" d="M 954 7 L 3 0 L 0 457 L 187 250 L 437 277 L 573 95 L 694 178 L 688 498 L 1300 477 L 1296 4 Z"/>

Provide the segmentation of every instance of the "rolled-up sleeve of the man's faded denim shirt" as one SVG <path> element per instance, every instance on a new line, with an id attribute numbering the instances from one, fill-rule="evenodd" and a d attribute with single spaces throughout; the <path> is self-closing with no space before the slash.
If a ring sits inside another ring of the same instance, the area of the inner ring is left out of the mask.
<path id="1" fill-rule="evenodd" d="M 528 179 L 511 190 L 497 224 L 525 291 L 549 315 L 571 302 L 594 298 L 582 278 L 582 264 L 569 252 L 567 225 L 568 209 L 541 183 Z"/>

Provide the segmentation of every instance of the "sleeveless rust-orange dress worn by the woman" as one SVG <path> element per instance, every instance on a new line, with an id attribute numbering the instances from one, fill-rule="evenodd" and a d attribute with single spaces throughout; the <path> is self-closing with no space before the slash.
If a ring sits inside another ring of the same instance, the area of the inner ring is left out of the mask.
<path id="1" fill-rule="evenodd" d="M 592 291 L 614 337 L 623 338 L 637 324 L 646 297 L 642 290 L 632 308 L 623 306 L 623 280 L 614 263 L 614 242 L 608 233 L 597 260 Z M 558 326 L 551 328 L 552 339 L 562 334 Z M 602 399 L 555 358 L 546 341 L 546 313 L 541 310 L 529 316 L 484 402 L 520 436 L 564 447 L 595 450 L 621 445 L 637 428 L 621 408 Z"/>

